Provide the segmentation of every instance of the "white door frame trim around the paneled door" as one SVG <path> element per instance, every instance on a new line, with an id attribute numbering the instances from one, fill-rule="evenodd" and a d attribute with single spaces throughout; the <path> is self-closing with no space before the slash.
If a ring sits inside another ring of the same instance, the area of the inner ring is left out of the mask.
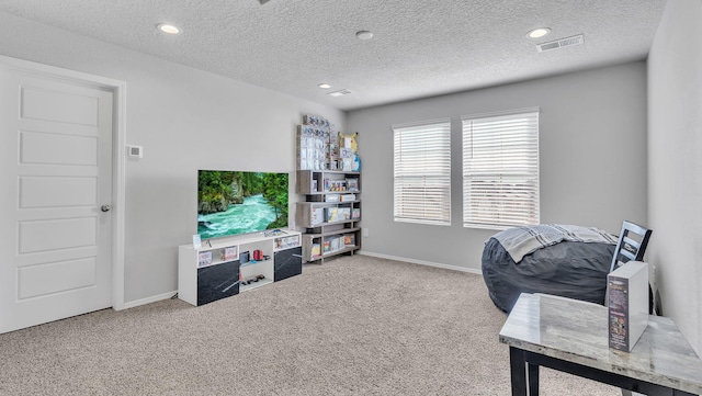
<path id="1" fill-rule="evenodd" d="M 124 233 L 125 233 L 125 162 L 126 162 L 126 81 L 89 75 L 56 66 L 0 55 L 0 68 L 32 72 L 107 89 L 113 94 L 112 109 L 112 308 L 126 308 L 124 302 Z"/>

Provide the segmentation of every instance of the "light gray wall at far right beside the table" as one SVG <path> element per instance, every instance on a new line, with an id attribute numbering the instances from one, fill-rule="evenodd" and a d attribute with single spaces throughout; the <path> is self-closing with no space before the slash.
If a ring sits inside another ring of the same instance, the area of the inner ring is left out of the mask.
<path id="1" fill-rule="evenodd" d="M 702 355 L 702 1 L 669 1 L 648 57 L 648 259 Z"/>

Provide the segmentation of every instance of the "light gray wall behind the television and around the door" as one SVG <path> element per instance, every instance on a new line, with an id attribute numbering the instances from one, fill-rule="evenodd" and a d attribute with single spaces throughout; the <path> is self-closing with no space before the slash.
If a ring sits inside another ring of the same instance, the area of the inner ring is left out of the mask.
<path id="1" fill-rule="evenodd" d="M 196 233 L 197 169 L 293 171 L 303 114 L 343 126 L 341 111 L 5 13 L 0 37 L 1 55 L 127 83 L 126 142 L 145 155 L 126 165 L 127 305 L 178 288 L 178 246 Z"/>

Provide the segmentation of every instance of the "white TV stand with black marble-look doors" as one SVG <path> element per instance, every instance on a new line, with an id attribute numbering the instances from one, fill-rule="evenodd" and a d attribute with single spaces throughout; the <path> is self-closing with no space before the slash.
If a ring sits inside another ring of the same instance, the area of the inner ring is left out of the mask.
<path id="1" fill-rule="evenodd" d="M 178 297 L 203 305 L 302 273 L 301 233 L 270 230 L 178 248 Z"/>

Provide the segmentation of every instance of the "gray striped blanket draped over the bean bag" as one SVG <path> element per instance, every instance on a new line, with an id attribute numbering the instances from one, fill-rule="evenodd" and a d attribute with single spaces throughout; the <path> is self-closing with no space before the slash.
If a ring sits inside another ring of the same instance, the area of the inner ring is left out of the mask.
<path id="1" fill-rule="evenodd" d="M 540 224 L 509 228 L 495 234 L 492 238 L 502 245 L 516 263 L 519 263 L 529 253 L 564 240 L 609 245 L 616 245 L 619 240 L 619 237 L 596 227 L 562 224 Z"/>

